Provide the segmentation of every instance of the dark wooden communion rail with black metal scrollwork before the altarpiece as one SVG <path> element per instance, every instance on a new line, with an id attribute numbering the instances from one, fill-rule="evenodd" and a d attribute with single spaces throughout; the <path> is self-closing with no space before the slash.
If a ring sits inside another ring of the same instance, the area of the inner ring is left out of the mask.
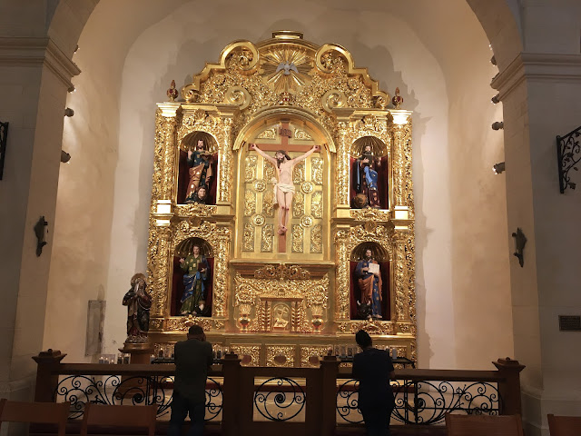
<path id="1" fill-rule="evenodd" d="M 173 364 L 61 363 L 63 357 L 53 351 L 35 357 L 35 401 L 71 401 L 71 431 L 89 401 L 156 404 L 158 431 L 165 431 Z M 397 370 L 392 381 L 396 399 L 392 426 L 438 432 L 448 412 L 520 413 L 519 372 L 524 367 L 509 359 L 493 363 L 497 371 Z M 241 366 L 241 360 L 229 354 L 209 372 L 205 419 L 214 434 L 357 431 L 363 425 L 357 390 L 350 368 L 340 366 L 334 356 L 325 357 L 319 368 L 265 368 Z"/>

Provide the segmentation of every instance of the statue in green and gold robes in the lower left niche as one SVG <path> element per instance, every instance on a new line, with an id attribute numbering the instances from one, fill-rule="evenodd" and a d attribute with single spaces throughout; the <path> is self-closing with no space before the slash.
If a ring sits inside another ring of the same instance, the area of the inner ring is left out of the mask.
<path id="1" fill-rule="evenodd" d="M 192 254 L 180 259 L 183 274 L 183 295 L 180 314 L 207 315 L 206 280 L 210 276 L 210 265 L 205 256 L 200 253 L 200 246 L 192 247 Z"/>

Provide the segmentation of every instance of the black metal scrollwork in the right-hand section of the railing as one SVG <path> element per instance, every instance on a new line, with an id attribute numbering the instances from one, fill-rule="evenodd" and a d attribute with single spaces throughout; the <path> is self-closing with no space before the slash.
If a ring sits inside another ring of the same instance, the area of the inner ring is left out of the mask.
<path id="1" fill-rule="evenodd" d="M 358 405 L 359 382 L 345 381 L 337 392 L 337 411 L 343 421 L 363 421 Z M 407 424 L 438 424 L 452 411 L 497 415 L 502 399 L 495 385 L 485 381 L 460 384 L 453 381 L 392 382 L 395 408 L 392 419 Z"/>

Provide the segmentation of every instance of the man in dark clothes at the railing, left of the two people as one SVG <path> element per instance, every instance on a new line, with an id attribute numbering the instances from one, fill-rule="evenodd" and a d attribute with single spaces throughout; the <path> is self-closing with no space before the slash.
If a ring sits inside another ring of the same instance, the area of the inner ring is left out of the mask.
<path id="1" fill-rule="evenodd" d="M 212 344 L 206 342 L 202 327 L 192 325 L 188 340 L 174 348 L 175 380 L 173 381 L 172 417 L 168 436 L 180 436 L 185 417 L 192 425 L 187 436 L 202 436 L 206 402 L 206 377 L 212 365 Z"/>

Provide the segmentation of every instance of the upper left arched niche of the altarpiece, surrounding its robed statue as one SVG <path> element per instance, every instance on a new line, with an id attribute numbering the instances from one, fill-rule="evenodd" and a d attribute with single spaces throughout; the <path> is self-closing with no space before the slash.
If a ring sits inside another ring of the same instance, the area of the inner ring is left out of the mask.
<path id="1" fill-rule="evenodd" d="M 195 153 L 198 142 L 202 141 L 207 155 Z M 188 152 L 192 150 L 192 159 L 188 159 Z M 203 162 L 206 164 L 202 170 L 196 172 L 195 168 Z M 218 174 L 218 142 L 216 138 L 207 132 L 195 131 L 183 136 L 179 147 L 178 159 L 178 185 L 176 203 L 194 202 L 192 191 L 197 192 L 202 184 L 206 185 L 206 204 L 216 203 L 216 186 Z M 199 180 L 197 180 L 199 178 Z M 203 183 L 202 183 L 203 180 Z M 196 184 L 197 183 L 197 184 Z M 190 193 L 190 195 L 188 195 Z"/>

